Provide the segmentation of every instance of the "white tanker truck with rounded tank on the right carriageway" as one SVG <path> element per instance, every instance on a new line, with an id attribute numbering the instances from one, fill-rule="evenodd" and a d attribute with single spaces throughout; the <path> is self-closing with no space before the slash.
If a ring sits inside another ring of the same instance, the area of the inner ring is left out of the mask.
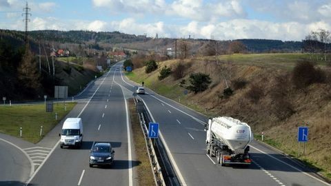
<path id="1" fill-rule="evenodd" d="M 207 131 L 207 154 L 217 157 L 217 163 L 223 165 L 250 165 L 250 146 L 252 130 L 247 123 L 231 117 L 210 118 L 205 124 Z"/>

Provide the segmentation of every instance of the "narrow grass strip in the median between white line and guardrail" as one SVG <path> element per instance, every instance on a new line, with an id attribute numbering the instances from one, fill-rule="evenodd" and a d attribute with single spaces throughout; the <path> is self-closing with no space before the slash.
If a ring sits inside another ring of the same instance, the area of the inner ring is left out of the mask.
<path id="1" fill-rule="evenodd" d="M 134 105 L 133 99 L 129 100 L 129 109 L 134 152 L 137 156 L 137 161 L 140 162 L 140 164 L 137 165 L 138 183 L 139 185 L 155 185 L 152 168 L 150 167 L 150 159 L 148 158 L 148 152 L 146 149 L 145 138 L 141 131 L 139 116 L 136 112 L 136 106 Z"/>

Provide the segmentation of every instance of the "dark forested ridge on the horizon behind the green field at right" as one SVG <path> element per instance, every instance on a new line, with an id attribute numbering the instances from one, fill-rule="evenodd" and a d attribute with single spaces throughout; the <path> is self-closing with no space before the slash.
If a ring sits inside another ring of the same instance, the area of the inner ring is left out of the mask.
<path id="1" fill-rule="evenodd" d="M 301 41 L 281 41 L 272 39 L 237 39 L 246 45 L 248 51 L 263 52 L 297 52 L 302 48 Z"/>

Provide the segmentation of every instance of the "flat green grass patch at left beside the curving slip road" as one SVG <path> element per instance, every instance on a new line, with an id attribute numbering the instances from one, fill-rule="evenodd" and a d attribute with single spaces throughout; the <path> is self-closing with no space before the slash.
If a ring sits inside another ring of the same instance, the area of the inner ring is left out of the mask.
<path id="1" fill-rule="evenodd" d="M 66 111 L 63 103 L 54 103 L 53 112 L 46 112 L 44 104 L 37 105 L 12 105 L 0 107 L 0 132 L 19 137 L 19 129 L 22 127 L 23 140 L 38 143 L 52 128 L 66 116 L 76 103 L 66 103 Z M 55 120 L 57 113 L 57 121 Z M 41 125 L 43 134 L 39 136 Z"/>

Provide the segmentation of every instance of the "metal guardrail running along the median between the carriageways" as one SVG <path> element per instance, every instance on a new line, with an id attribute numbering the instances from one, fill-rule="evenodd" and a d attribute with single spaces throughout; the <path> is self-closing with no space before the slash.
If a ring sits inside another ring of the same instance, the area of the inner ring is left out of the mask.
<path id="1" fill-rule="evenodd" d="M 138 100 L 134 99 L 134 103 L 137 105 Z M 143 135 L 145 136 L 145 143 L 146 143 L 146 147 L 148 149 L 148 157 L 150 158 L 150 165 L 152 167 L 152 172 L 154 174 L 154 181 L 155 181 L 155 185 L 157 186 L 165 186 L 165 181 L 163 178 L 163 174 L 161 172 L 161 166 L 159 164 L 159 161 L 157 160 L 157 154 L 154 150 L 154 145 L 153 145 L 153 141 L 148 138 L 148 129 L 146 126 L 146 121 L 145 121 L 145 117 L 143 116 L 143 112 L 139 112 L 139 120 L 140 120 L 140 126 L 141 126 L 141 130 L 143 131 Z M 155 143 L 155 141 L 154 141 Z"/>

